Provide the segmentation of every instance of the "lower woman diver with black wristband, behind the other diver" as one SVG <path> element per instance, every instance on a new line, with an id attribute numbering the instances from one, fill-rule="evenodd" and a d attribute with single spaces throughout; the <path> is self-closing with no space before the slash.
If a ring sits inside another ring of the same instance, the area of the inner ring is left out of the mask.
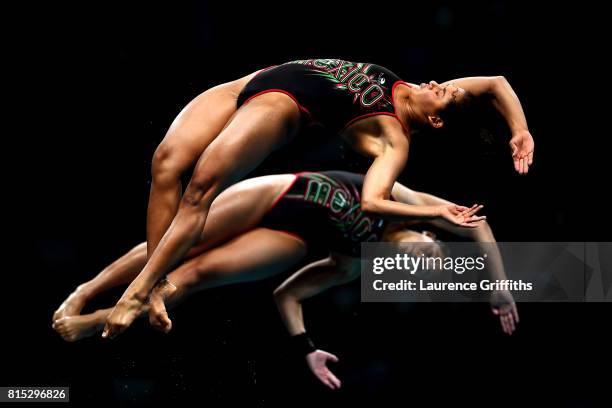
<path id="1" fill-rule="evenodd" d="M 172 323 L 166 303 L 176 305 L 203 289 L 286 272 L 315 251 L 324 259 L 287 279 L 275 291 L 275 298 L 296 348 L 304 353 L 313 373 L 335 388 L 339 382 L 325 366 L 333 356 L 317 350 L 305 334 L 301 301 L 359 276 L 362 242 L 428 242 L 434 250 L 437 246 L 429 234 L 419 233 L 406 223 L 362 212 L 362 183 L 363 175 L 330 171 L 264 176 L 228 188 L 212 205 L 210 222 L 200 234 L 202 244 L 193 248 L 188 259 L 152 292 L 147 306 L 150 322 L 169 331 Z M 445 207 L 455 214 L 426 220 L 436 227 L 479 242 L 495 242 L 484 217 L 475 215 L 482 206 L 457 206 L 399 183 L 395 183 L 392 194 L 398 203 Z M 79 315 L 81 308 L 97 294 L 129 283 L 145 263 L 146 243 L 142 243 L 80 285 L 60 307 L 76 308 L 77 313 L 55 320 L 54 329 L 67 341 L 99 333 L 112 309 Z M 501 265 L 501 260 L 492 259 L 491 264 L 496 263 Z M 503 270 L 494 272 L 502 278 L 499 274 Z M 511 334 L 518 322 L 516 306 L 509 293 L 499 295 L 505 303 L 492 304 L 493 311 L 500 315 L 504 332 Z"/>

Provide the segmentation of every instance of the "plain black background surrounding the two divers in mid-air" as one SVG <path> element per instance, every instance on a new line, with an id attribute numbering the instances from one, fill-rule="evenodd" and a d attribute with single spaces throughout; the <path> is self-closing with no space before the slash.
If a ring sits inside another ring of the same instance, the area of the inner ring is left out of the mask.
<path id="1" fill-rule="evenodd" d="M 509 135 L 492 123 L 492 142 L 415 139 L 402 181 L 485 204 L 499 241 L 606 240 L 600 108 L 608 91 L 597 73 L 605 24 L 582 2 L 563 7 L 25 5 L 8 36 L 19 71 L 8 78 L 19 88 L 9 122 L 23 143 L 5 151 L 19 163 L 7 173 L 17 187 L 6 199 L 19 232 L 5 255 L 1 384 L 68 385 L 82 405 L 606 405 L 609 304 L 520 304 L 508 338 L 485 304 L 361 304 L 358 282 L 338 288 L 305 303 L 319 347 L 340 357 L 336 392 L 289 354 L 271 298 L 285 276 L 188 300 L 167 336 L 140 322 L 113 342 L 68 344 L 50 327 L 78 283 L 145 239 L 150 159 L 180 109 L 213 85 L 293 59 L 376 62 L 414 83 L 505 75 L 536 140 L 529 175 L 514 172 Z M 310 132 L 255 174 L 365 165 L 337 139 Z"/>

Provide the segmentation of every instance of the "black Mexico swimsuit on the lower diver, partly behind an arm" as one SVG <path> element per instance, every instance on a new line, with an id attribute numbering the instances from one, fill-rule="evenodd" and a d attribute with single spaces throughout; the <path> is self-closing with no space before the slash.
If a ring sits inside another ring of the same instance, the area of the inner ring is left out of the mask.
<path id="1" fill-rule="evenodd" d="M 343 171 L 298 173 L 260 226 L 297 235 L 309 246 L 358 257 L 361 243 L 380 241 L 387 225 L 361 212 L 363 177 Z"/>

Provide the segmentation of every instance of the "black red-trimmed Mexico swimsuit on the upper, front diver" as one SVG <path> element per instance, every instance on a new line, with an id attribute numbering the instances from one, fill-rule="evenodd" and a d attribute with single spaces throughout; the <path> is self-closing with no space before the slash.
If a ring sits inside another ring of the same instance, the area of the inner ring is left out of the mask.
<path id="1" fill-rule="evenodd" d="M 376 64 L 297 60 L 257 73 L 238 96 L 237 105 L 266 92 L 281 92 L 296 102 L 308 120 L 341 132 L 368 116 L 397 118 L 393 92 L 400 83 L 397 75 Z"/>

